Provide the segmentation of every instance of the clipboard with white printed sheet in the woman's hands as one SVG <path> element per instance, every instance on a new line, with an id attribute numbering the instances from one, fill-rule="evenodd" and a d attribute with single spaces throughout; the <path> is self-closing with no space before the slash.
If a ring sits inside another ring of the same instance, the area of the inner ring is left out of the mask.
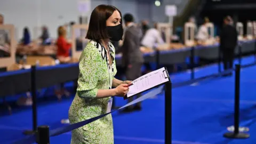
<path id="1" fill-rule="evenodd" d="M 129 87 L 129 92 L 125 95 L 124 99 L 132 98 L 134 95 L 169 82 L 171 82 L 171 80 L 166 67 L 151 71 L 132 81 L 133 85 Z"/>

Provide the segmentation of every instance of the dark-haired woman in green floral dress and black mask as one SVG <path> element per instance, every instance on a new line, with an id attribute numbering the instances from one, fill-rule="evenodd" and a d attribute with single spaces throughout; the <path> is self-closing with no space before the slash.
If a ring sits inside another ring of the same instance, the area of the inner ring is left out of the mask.
<path id="1" fill-rule="evenodd" d="M 110 97 L 123 97 L 129 91 L 127 84 L 131 81 L 114 78 L 115 48 L 109 42 L 122 39 L 121 18 L 121 12 L 111 5 L 99 5 L 92 11 L 86 35 L 91 41 L 79 60 L 77 93 L 69 108 L 71 124 L 107 113 L 111 108 Z M 112 86 L 116 88 L 111 89 Z M 112 116 L 72 131 L 71 143 L 114 143 Z"/>

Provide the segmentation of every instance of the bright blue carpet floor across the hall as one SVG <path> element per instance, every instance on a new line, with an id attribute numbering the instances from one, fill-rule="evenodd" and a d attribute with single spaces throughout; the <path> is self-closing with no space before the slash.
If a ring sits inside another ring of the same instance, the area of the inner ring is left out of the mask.
<path id="1" fill-rule="evenodd" d="M 253 62 L 252 57 L 242 63 Z M 235 62 L 236 63 L 236 62 Z M 248 126 L 251 137 L 229 140 L 222 137 L 227 127 L 234 124 L 234 75 L 173 89 L 172 135 L 174 144 L 253 144 L 256 141 L 256 67 L 241 70 L 241 126 Z M 216 65 L 199 68 L 196 77 L 217 73 Z M 171 76 L 173 83 L 186 81 L 190 72 Z M 50 129 L 63 126 L 60 120 L 68 117 L 72 98 L 62 102 L 47 101 L 38 106 L 38 125 Z M 117 105 L 126 103 L 117 98 Z M 164 94 L 142 102 L 142 111 L 113 114 L 115 143 L 164 143 Z M 255 108 L 255 109 L 254 109 Z M 0 117 L 0 143 L 11 143 L 25 138 L 22 131 L 31 129 L 31 109 L 19 109 L 11 116 Z M 51 143 L 70 143 L 70 132 L 51 138 Z"/>

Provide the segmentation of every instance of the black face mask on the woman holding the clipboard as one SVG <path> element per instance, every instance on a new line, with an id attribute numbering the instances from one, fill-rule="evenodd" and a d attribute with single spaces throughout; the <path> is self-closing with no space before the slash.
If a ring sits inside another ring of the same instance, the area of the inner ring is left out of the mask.
<path id="1" fill-rule="evenodd" d="M 123 37 L 124 30 L 121 24 L 117 26 L 107 26 L 108 35 L 111 41 L 120 41 Z"/>

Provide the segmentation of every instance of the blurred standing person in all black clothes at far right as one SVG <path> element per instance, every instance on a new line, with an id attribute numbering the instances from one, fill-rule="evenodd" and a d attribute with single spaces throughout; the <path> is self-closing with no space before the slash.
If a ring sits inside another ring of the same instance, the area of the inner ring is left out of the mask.
<path id="1" fill-rule="evenodd" d="M 237 45 L 237 31 L 232 25 L 232 19 L 226 17 L 220 34 L 220 51 L 223 57 L 224 69 L 233 68 L 234 51 Z M 225 76 L 230 76 L 232 73 Z"/>

